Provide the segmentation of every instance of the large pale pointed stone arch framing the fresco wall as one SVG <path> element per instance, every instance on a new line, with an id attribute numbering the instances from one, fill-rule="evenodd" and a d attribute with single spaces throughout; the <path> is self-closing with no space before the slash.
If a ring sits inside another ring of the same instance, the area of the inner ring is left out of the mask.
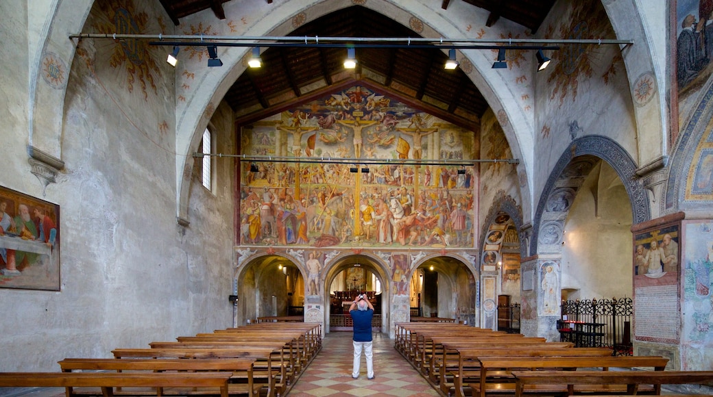
<path id="1" fill-rule="evenodd" d="M 327 4 L 329 4 L 327 6 Z M 307 9 L 295 9 L 294 1 L 285 1 L 280 4 L 271 4 L 270 18 L 265 18 L 257 10 L 257 14 L 252 18 L 255 21 L 265 22 L 268 19 L 272 23 L 270 26 L 261 24 L 255 26 L 252 30 L 254 36 L 280 36 L 283 33 L 289 33 L 294 27 L 292 21 L 304 21 L 309 15 L 309 18 L 319 18 L 337 9 L 344 9 L 354 4 L 349 1 L 319 1 L 315 2 Z M 419 4 L 419 2 L 411 2 L 409 4 L 395 4 L 391 2 L 366 2 L 361 4 L 369 9 L 373 9 L 381 14 L 389 15 L 395 21 L 411 26 L 414 21 L 417 22 L 421 29 L 419 33 L 424 37 L 438 38 L 443 36 L 463 36 L 465 31 L 460 26 L 457 26 L 453 21 L 443 18 L 443 16 L 429 6 Z M 273 23 L 274 21 L 274 23 Z M 289 28 L 292 26 L 292 28 Z M 237 51 L 237 50 L 235 50 Z M 178 109 L 180 120 L 177 120 L 176 131 L 176 205 L 177 216 L 179 221 L 188 224 L 188 199 L 190 175 L 193 157 L 190 156 L 190 148 L 195 147 L 198 143 L 196 134 L 202 133 L 210 119 L 212 110 L 215 110 L 215 103 L 219 102 L 227 89 L 238 77 L 245 71 L 245 65 L 242 60 L 247 50 L 235 52 L 225 58 L 221 56 L 224 63 L 222 68 L 213 68 L 220 70 L 203 70 L 202 73 L 212 73 L 213 78 L 207 79 L 205 76 L 196 75 L 196 79 L 201 79 L 201 84 L 198 89 L 193 92 L 191 97 L 184 102 L 180 102 L 185 108 Z M 235 56 L 237 55 L 237 56 Z M 503 132 L 506 134 L 508 144 L 511 147 L 513 157 L 520 160 L 517 165 L 518 174 L 527 175 L 533 169 L 533 153 L 528 152 L 524 148 L 533 147 L 533 117 L 528 115 L 522 107 L 517 105 L 517 101 L 510 100 L 512 95 L 510 90 L 498 90 L 497 88 L 506 87 L 508 81 L 506 78 L 491 69 L 493 60 L 491 54 L 487 51 L 463 51 L 463 59 L 468 60 L 470 67 L 468 68 L 468 78 L 474 85 L 481 90 L 487 102 L 491 104 L 493 109 L 496 109 L 498 120 L 503 127 Z M 520 196 L 526 198 L 523 201 L 525 213 L 531 213 L 532 201 L 530 197 L 531 186 L 528 177 L 520 178 Z"/>

